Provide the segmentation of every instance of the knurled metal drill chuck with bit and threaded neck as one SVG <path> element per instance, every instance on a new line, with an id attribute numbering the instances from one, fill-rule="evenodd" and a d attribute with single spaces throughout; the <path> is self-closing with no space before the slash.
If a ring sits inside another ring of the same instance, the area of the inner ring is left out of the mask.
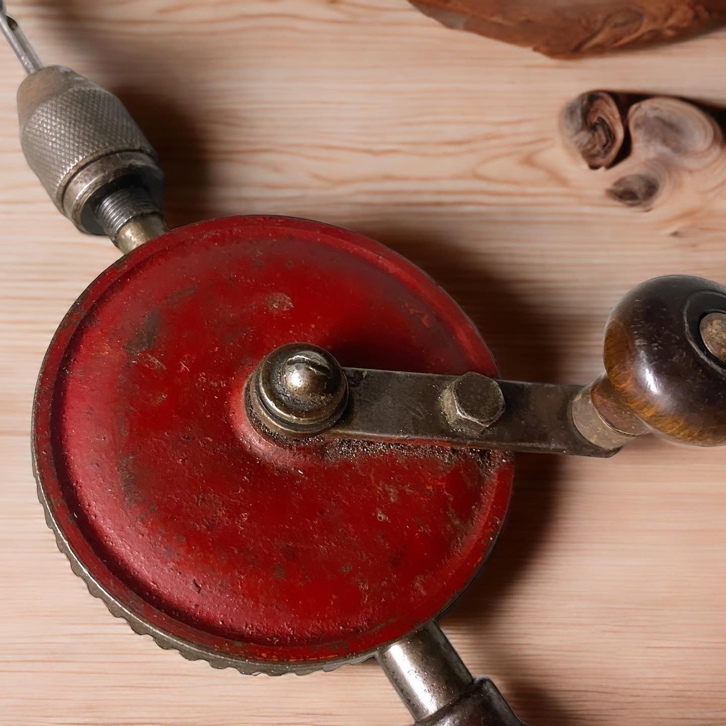
<path id="1" fill-rule="evenodd" d="M 20 144 L 57 208 L 124 253 L 167 231 L 157 155 L 110 91 L 43 65 L 0 1 L 0 28 L 28 73 L 17 90 Z"/>

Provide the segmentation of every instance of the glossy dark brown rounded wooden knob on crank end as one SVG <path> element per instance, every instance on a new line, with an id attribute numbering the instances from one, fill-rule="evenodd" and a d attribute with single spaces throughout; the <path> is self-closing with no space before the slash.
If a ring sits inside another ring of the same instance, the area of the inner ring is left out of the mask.
<path id="1" fill-rule="evenodd" d="M 726 444 L 726 287 L 686 275 L 638 285 L 608 318 L 604 361 L 619 404 L 648 429 Z"/>

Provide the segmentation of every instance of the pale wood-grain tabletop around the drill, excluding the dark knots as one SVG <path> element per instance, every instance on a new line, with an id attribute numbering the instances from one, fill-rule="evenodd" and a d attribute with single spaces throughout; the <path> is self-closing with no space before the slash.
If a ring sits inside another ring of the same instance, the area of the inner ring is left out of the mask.
<path id="1" fill-rule="evenodd" d="M 634 214 L 560 148 L 577 94 L 726 104 L 726 33 L 576 64 L 451 33 L 403 0 L 16 0 L 44 60 L 118 91 L 162 155 L 171 224 L 285 213 L 378 237 L 446 286 L 511 378 L 584 383 L 637 282 L 726 280 L 726 210 Z M 637 69 L 637 70 L 636 70 Z M 62 314 L 115 258 L 25 166 L 0 49 L 0 724 L 393 726 L 375 664 L 216 672 L 131 634 L 70 572 L 36 501 L 28 428 Z M 510 521 L 444 619 L 532 726 L 726 721 L 722 449 L 521 457 Z"/>

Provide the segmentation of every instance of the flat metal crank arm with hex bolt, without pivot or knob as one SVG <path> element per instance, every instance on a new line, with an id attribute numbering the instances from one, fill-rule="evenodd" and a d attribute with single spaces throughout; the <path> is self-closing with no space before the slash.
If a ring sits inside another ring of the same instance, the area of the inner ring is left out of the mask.
<path id="1" fill-rule="evenodd" d="M 594 457 L 618 451 L 597 446 L 578 431 L 572 407 L 582 386 L 494 380 L 471 372 L 343 372 L 348 409 L 330 436 Z"/>

